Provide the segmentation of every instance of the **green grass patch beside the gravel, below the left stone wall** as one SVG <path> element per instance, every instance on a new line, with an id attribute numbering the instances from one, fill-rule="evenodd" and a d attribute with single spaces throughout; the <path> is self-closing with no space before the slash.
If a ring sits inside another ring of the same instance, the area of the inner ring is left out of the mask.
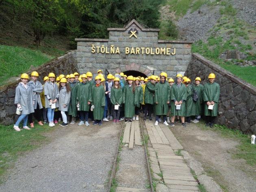
<path id="1" fill-rule="evenodd" d="M 46 143 L 48 138 L 43 133 L 52 130 L 47 125 L 35 125 L 31 130 L 16 132 L 13 125 L 0 125 L 0 183 L 4 182 L 4 174 L 13 167 L 18 157 Z"/>

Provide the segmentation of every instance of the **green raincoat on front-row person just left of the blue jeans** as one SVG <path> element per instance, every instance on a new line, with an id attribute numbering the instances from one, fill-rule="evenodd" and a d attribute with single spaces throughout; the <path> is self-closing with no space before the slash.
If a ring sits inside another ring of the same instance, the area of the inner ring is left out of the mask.
<path id="1" fill-rule="evenodd" d="M 102 120 L 104 115 L 104 106 L 105 103 L 105 89 L 104 86 L 92 86 L 91 88 L 91 97 L 92 97 L 92 105 L 94 105 L 93 109 L 93 117 L 94 120 Z"/>

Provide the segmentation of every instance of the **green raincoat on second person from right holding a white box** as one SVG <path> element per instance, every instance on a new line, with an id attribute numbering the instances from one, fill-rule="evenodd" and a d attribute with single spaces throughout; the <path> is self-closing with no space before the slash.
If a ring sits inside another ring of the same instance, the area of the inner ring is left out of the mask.
<path id="1" fill-rule="evenodd" d="M 187 88 L 184 84 L 177 86 L 174 83 L 171 87 L 171 116 L 186 116 Z M 176 110 L 175 101 L 183 100 L 180 110 Z"/>

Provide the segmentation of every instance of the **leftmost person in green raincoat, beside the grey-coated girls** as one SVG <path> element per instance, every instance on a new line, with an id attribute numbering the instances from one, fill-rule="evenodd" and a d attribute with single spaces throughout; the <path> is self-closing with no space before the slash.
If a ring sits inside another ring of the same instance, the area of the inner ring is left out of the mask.
<path id="1" fill-rule="evenodd" d="M 70 125 L 76 123 L 76 116 L 77 116 L 77 106 L 76 106 L 76 98 L 77 98 L 77 87 L 78 82 L 75 80 L 74 74 L 70 74 L 69 76 L 70 82 L 69 86 L 71 87 L 71 98 L 69 102 L 68 114 L 72 116 Z"/>

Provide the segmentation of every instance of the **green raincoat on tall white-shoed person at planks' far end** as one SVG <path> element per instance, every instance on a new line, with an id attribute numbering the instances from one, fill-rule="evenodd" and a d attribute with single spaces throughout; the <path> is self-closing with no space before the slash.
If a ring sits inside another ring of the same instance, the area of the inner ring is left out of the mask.
<path id="1" fill-rule="evenodd" d="M 167 115 L 167 101 L 170 101 L 170 85 L 166 81 L 164 83 L 159 82 L 156 84 L 156 88 L 154 97 L 156 115 Z"/>

